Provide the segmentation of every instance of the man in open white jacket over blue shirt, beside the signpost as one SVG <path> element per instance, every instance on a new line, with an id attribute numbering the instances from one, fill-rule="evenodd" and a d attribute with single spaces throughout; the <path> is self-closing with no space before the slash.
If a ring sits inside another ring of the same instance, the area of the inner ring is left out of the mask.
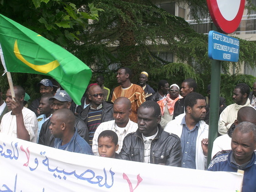
<path id="1" fill-rule="evenodd" d="M 207 168 L 208 125 L 203 121 L 206 102 L 199 93 L 189 93 L 184 101 L 185 113 L 169 122 L 165 131 L 181 138 L 182 167 L 205 170 Z"/>

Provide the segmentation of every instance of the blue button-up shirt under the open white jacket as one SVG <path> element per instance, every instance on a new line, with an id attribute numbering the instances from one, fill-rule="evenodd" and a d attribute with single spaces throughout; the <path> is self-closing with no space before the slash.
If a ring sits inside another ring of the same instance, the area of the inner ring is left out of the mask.
<path id="1" fill-rule="evenodd" d="M 186 116 L 184 116 L 181 121 L 181 124 L 183 124 L 181 133 L 181 148 L 183 155 L 181 167 L 196 169 L 196 146 L 199 122 L 197 122 L 193 129 L 189 130 L 185 117 Z"/>

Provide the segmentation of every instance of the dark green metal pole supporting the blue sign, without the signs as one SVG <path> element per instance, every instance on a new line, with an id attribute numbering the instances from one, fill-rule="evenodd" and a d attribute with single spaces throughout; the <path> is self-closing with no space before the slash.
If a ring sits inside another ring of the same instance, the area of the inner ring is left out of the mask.
<path id="1" fill-rule="evenodd" d="M 214 24 L 213 30 L 217 31 Z M 221 61 L 212 60 L 207 165 L 211 162 L 213 141 L 218 137 L 220 69 Z"/>

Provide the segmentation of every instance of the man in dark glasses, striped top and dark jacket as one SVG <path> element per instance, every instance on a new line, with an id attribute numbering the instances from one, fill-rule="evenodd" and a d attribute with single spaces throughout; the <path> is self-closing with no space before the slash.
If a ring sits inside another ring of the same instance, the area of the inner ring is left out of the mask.
<path id="1" fill-rule="evenodd" d="M 92 85 L 88 91 L 91 104 L 80 112 L 80 118 L 84 120 L 89 129 L 89 144 L 92 145 L 97 127 L 102 122 L 113 120 L 113 104 L 103 101 L 103 92 L 99 85 Z"/>

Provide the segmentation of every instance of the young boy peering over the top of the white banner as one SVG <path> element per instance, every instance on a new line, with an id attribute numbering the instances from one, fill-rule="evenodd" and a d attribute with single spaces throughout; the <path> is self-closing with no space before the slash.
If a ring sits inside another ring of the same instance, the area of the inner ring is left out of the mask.
<path id="1" fill-rule="evenodd" d="M 117 133 L 111 130 L 102 131 L 98 137 L 98 152 L 101 157 L 110 157 L 118 159 L 119 145 L 117 144 Z"/>

